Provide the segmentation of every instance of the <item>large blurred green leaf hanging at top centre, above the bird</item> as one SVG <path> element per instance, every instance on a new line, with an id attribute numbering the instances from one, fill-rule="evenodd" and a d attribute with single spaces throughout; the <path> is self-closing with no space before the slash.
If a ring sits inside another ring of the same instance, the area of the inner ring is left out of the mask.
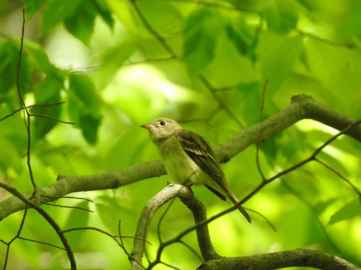
<path id="1" fill-rule="evenodd" d="M 188 17 L 183 29 L 183 57 L 191 77 L 214 58 L 219 28 L 219 19 L 209 8 L 199 8 Z"/>

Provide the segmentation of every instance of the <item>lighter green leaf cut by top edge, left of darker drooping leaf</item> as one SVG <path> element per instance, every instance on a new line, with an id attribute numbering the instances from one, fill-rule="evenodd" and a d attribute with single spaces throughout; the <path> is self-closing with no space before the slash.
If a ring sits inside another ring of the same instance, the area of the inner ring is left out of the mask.
<path id="1" fill-rule="evenodd" d="M 40 35 L 43 35 L 56 24 L 73 15 L 81 1 L 82 0 L 49 0 L 43 10 Z"/>

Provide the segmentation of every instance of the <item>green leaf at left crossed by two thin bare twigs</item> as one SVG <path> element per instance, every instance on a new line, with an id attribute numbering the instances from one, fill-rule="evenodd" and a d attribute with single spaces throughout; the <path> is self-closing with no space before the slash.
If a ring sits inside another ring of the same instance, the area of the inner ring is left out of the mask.
<path id="1" fill-rule="evenodd" d="M 48 76 L 42 82 L 35 85 L 35 104 L 52 104 L 61 102 L 60 91 L 64 88 L 62 77 Z M 61 114 L 61 105 L 32 107 L 31 113 L 50 116 L 59 119 Z M 35 138 L 43 138 L 50 130 L 58 124 L 57 121 L 45 118 L 35 117 Z"/>

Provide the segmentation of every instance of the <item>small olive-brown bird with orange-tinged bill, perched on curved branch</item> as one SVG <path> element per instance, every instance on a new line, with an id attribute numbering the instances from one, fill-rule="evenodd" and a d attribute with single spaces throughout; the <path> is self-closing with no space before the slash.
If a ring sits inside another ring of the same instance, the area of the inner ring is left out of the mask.
<path id="1" fill-rule="evenodd" d="M 158 118 L 140 127 L 149 131 L 171 179 L 179 184 L 191 181 L 195 186 L 205 185 L 223 201 L 227 196 L 234 204 L 238 203 L 218 157 L 202 135 L 182 129 L 181 125 L 169 118 Z M 238 206 L 238 210 L 251 223 L 252 219 L 242 205 Z"/>

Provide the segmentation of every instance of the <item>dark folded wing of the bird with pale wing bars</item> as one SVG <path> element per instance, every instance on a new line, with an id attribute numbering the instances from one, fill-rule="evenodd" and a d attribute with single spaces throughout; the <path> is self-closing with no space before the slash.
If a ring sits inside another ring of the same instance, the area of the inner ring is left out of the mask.
<path id="1" fill-rule="evenodd" d="M 205 171 L 216 183 L 223 189 L 227 190 L 224 184 L 224 176 L 217 157 L 210 147 L 209 143 L 197 132 L 183 129 L 176 131 L 176 137 L 181 138 L 181 146 L 184 152 L 203 170 Z M 210 191 L 216 194 L 223 201 L 226 197 L 218 192 L 211 186 L 205 185 Z"/>

